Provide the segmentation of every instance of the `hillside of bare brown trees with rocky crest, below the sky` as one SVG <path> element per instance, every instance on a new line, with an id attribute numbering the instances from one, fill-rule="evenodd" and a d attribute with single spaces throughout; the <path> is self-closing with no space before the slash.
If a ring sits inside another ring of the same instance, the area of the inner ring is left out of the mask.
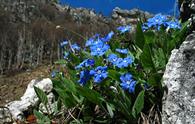
<path id="1" fill-rule="evenodd" d="M 135 15 L 144 13 L 118 8 L 112 18 L 105 18 L 93 10 L 60 6 L 51 1 L 0 1 L 0 74 L 53 63 L 62 57 L 59 42 L 63 39 L 82 44 L 84 39 L 71 31 L 84 37 L 105 34 L 116 26 L 136 23 Z M 56 29 L 57 25 L 62 28 Z"/>

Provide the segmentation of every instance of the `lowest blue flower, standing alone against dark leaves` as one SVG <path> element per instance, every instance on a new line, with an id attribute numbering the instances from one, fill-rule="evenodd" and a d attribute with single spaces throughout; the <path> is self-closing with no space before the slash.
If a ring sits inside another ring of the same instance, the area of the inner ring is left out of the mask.
<path id="1" fill-rule="evenodd" d="M 136 81 L 133 79 L 130 73 L 121 75 L 120 80 L 122 82 L 120 86 L 122 87 L 123 90 L 128 90 L 129 93 L 135 92 Z"/>

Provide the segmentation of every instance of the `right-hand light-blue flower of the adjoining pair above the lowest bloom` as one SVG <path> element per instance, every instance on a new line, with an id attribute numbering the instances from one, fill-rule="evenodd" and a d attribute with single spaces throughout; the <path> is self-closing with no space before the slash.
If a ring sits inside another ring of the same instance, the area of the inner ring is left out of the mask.
<path id="1" fill-rule="evenodd" d="M 118 68 L 124 68 L 124 67 L 128 67 L 132 63 L 133 63 L 132 57 L 128 56 L 128 57 L 126 57 L 124 59 L 118 58 L 117 63 L 116 63 L 116 66 Z"/>

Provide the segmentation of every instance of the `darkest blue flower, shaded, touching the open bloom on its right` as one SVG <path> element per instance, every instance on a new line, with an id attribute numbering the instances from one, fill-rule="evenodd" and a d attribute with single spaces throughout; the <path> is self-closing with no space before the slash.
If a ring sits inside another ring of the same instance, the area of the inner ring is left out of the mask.
<path id="1" fill-rule="evenodd" d="M 90 80 L 91 75 L 89 70 L 83 70 L 80 72 L 80 79 L 78 80 L 78 83 L 80 85 L 85 85 L 88 80 Z"/>

